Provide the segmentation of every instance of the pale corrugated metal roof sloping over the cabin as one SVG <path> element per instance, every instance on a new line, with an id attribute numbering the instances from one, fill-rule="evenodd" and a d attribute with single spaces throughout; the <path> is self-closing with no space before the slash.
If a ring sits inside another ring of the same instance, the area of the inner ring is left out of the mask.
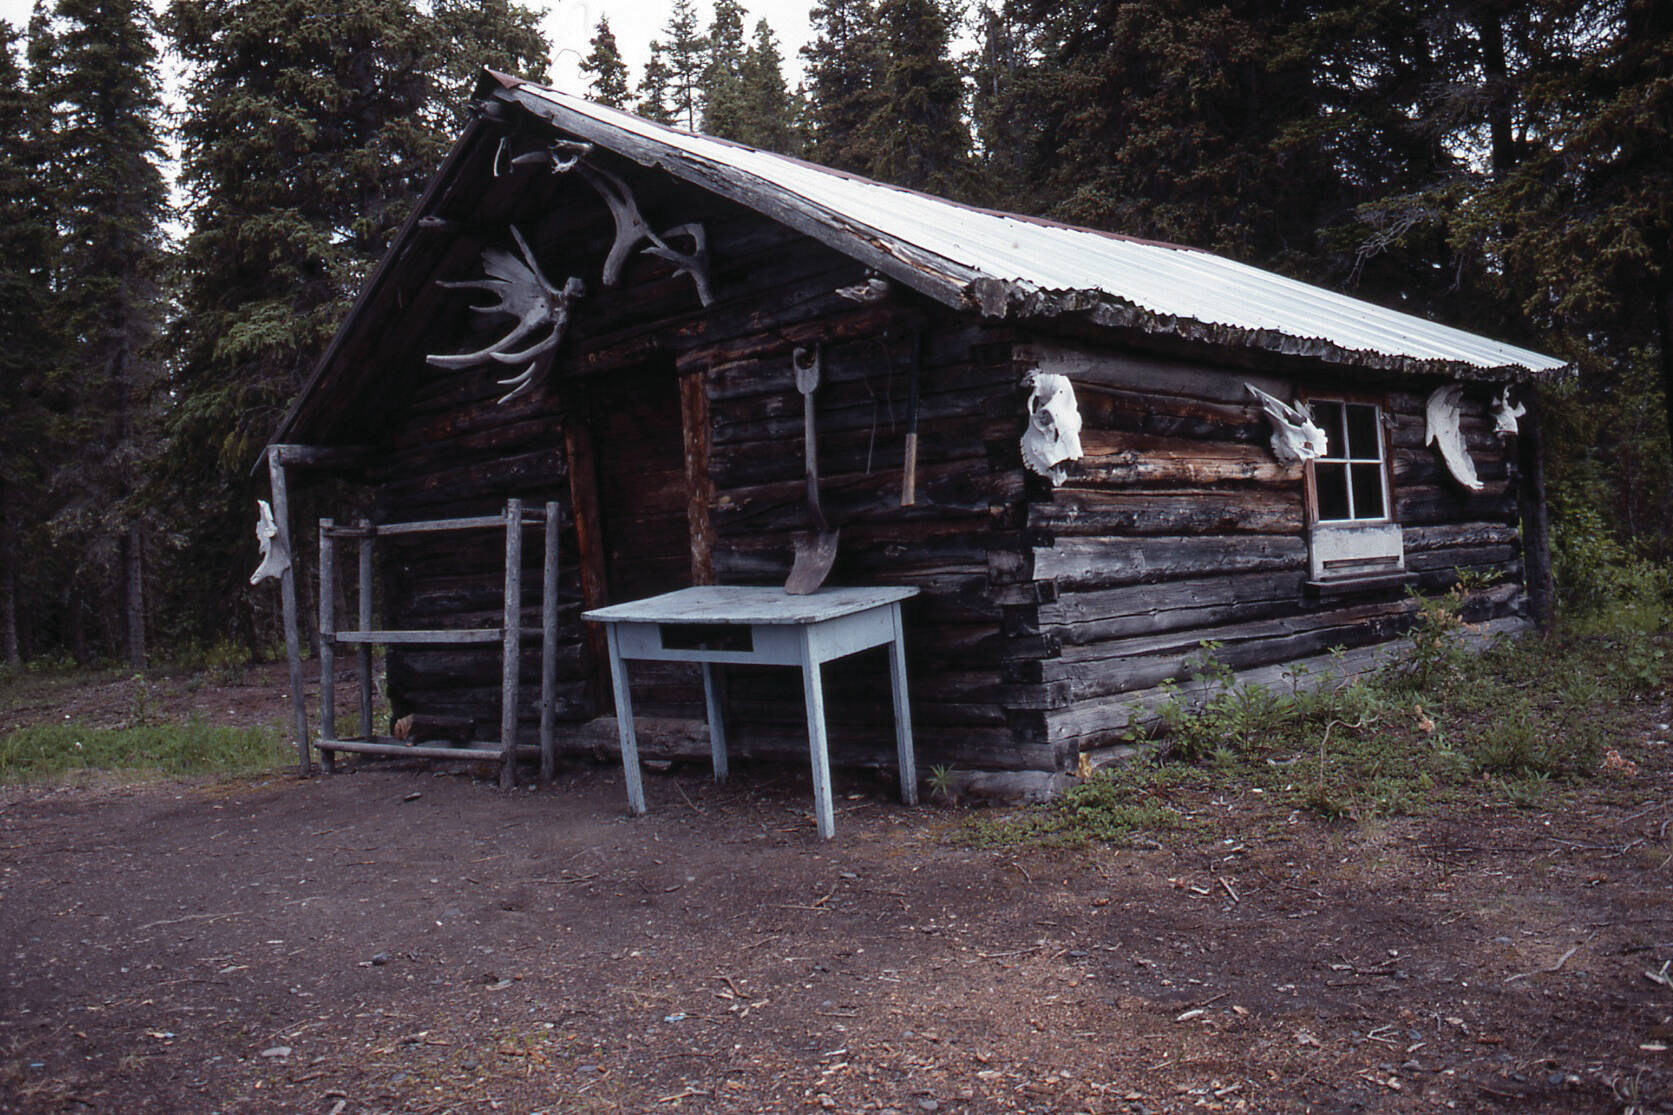
<path id="1" fill-rule="evenodd" d="M 632 137 L 641 162 L 706 186 L 770 198 L 900 261 L 908 285 L 989 316 L 1091 310 L 1149 331 L 1462 375 L 1551 373 L 1563 360 L 1387 310 L 1195 248 L 972 209 L 800 159 L 652 124 L 532 82 L 502 79 L 515 100 L 606 147 Z M 581 126 L 581 127 L 576 127 Z M 602 129 L 602 131 L 601 131 Z"/>

